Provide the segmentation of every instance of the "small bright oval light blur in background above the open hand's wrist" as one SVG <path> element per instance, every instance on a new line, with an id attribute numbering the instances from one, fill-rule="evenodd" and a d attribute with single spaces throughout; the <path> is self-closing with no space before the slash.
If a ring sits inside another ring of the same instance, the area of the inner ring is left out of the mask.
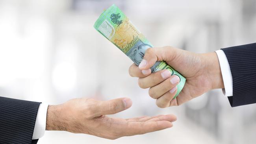
<path id="1" fill-rule="evenodd" d="M 52 83 L 59 92 L 70 92 L 76 84 L 76 69 L 69 62 L 55 66 L 52 72 Z"/>

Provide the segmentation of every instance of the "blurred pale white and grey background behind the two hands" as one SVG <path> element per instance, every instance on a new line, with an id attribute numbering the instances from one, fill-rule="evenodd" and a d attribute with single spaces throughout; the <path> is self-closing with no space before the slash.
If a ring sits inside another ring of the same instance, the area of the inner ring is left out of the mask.
<path id="1" fill-rule="evenodd" d="M 48 104 L 129 97 L 133 106 L 113 116 L 178 117 L 173 128 L 145 135 L 46 131 L 38 144 L 255 144 L 256 105 L 231 108 L 220 89 L 158 108 L 129 76 L 132 61 L 93 28 L 112 4 L 156 47 L 204 53 L 256 42 L 255 0 L 0 0 L 0 96 Z"/>

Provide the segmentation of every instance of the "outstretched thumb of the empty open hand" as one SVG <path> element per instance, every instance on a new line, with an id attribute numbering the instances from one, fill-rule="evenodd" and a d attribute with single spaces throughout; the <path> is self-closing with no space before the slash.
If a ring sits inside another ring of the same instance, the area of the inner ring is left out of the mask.
<path id="1" fill-rule="evenodd" d="M 99 105 L 101 115 L 115 114 L 124 111 L 132 106 L 130 98 L 117 98 L 109 101 L 102 101 Z"/>

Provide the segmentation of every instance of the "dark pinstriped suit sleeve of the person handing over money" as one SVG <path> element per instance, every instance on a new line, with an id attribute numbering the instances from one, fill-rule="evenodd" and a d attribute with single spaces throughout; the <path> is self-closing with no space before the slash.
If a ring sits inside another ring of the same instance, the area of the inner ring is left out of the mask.
<path id="1" fill-rule="evenodd" d="M 256 43 L 221 49 L 226 54 L 233 79 L 232 107 L 256 103 Z"/>

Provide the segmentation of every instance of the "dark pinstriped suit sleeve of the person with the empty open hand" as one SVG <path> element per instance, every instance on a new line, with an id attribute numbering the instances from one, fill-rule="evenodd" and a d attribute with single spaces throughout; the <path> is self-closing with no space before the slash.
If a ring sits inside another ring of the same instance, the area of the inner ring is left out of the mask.
<path id="1" fill-rule="evenodd" d="M 0 144 L 36 144 L 32 136 L 39 105 L 0 97 Z"/>

